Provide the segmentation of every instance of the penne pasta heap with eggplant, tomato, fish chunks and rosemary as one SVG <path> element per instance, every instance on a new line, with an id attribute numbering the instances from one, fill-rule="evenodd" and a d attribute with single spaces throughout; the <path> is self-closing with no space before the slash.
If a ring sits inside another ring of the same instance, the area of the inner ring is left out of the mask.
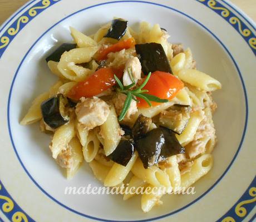
<path id="1" fill-rule="evenodd" d="M 52 157 L 68 179 L 86 161 L 104 186 L 187 189 L 213 166 L 211 93 L 221 84 L 159 24 L 127 24 L 115 18 L 91 36 L 70 27 L 74 42 L 46 58 L 58 81 L 21 124 L 39 121 L 52 136 Z M 142 210 L 164 194 L 142 194 Z"/>

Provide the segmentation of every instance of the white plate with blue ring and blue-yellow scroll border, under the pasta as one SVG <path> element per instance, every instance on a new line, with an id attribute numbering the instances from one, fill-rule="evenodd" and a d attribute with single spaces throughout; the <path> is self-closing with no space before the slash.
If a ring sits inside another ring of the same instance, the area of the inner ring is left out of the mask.
<path id="1" fill-rule="evenodd" d="M 198 69 L 217 78 L 214 167 L 195 195 L 166 195 L 150 213 L 138 198 L 64 195 L 66 186 L 100 186 L 86 164 L 71 181 L 50 157 L 38 124 L 19 125 L 38 93 L 55 81 L 45 57 L 71 41 L 69 26 L 91 34 L 112 17 L 159 23 L 190 47 Z M 4 221 L 242 221 L 255 218 L 255 24 L 226 1 L 34 0 L 0 29 L 0 218 Z"/>

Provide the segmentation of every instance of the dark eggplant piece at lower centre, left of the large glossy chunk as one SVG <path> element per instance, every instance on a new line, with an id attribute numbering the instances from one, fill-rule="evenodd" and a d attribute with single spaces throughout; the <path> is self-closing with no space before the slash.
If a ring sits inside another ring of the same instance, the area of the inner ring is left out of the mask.
<path id="1" fill-rule="evenodd" d="M 117 164 L 126 166 L 132 155 L 134 155 L 134 144 L 130 140 L 121 140 L 114 152 L 107 157 Z"/>

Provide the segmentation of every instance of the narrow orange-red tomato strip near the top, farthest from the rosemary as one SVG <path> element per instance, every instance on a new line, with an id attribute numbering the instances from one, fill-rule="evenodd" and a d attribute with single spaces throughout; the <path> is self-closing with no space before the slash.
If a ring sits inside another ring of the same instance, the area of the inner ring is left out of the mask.
<path id="1" fill-rule="evenodd" d="M 128 38 L 127 40 L 122 40 L 120 42 L 117 42 L 114 45 L 111 45 L 107 48 L 100 48 L 99 54 L 97 56 L 97 60 L 106 60 L 107 55 L 110 52 L 119 52 L 121 50 L 124 50 L 124 48 L 127 50 L 128 48 L 134 47 L 135 46 L 135 39 L 134 38 Z"/>

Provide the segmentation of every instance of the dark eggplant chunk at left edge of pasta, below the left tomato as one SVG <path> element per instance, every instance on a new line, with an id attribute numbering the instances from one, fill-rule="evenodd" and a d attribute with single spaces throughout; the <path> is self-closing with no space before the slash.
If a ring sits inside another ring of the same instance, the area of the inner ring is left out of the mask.
<path id="1" fill-rule="evenodd" d="M 43 120 L 52 129 L 66 124 L 70 118 L 66 115 L 65 106 L 68 101 L 62 94 L 49 98 L 41 104 Z"/>

